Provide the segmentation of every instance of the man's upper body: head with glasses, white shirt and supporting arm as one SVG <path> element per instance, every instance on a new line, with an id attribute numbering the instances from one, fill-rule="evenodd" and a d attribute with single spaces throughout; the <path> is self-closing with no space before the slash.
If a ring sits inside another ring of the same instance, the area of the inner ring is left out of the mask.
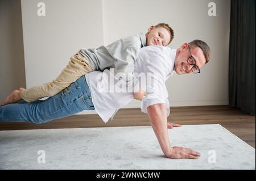
<path id="1" fill-rule="evenodd" d="M 149 74 L 147 77 L 154 82 L 147 83 L 146 96 L 139 99 L 142 99 L 142 112 L 148 113 L 159 144 L 168 158 L 198 158 L 200 153 L 188 148 L 170 146 L 167 132 L 167 116 L 170 114 L 170 106 L 165 82 L 173 71 L 177 74 L 200 73 L 200 68 L 209 61 L 209 54 L 210 49 L 204 41 L 194 40 L 189 44 L 181 45 L 177 50 L 160 46 L 144 47 L 135 62 L 134 72 Z M 109 70 L 104 70 L 104 72 L 106 73 L 104 75 L 109 75 Z M 130 102 L 132 95 L 125 92 L 102 91 L 99 87 L 109 87 L 110 75 L 104 77 L 100 74 L 103 73 L 94 71 L 86 75 L 86 80 L 89 81 L 94 108 L 106 122 L 115 115 L 119 108 Z"/>

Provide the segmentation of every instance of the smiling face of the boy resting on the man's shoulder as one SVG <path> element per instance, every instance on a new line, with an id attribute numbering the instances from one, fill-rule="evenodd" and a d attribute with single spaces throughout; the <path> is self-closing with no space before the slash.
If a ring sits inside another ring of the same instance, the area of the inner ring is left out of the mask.
<path id="1" fill-rule="evenodd" d="M 171 34 L 163 27 L 151 26 L 148 28 L 147 33 L 147 46 L 167 46 L 171 40 Z"/>

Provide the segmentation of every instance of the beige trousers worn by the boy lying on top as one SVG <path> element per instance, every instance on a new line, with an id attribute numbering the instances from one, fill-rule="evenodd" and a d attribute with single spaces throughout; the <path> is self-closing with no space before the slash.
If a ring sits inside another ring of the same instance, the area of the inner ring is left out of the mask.
<path id="1" fill-rule="evenodd" d="M 74 54 L 70 59 L 71 61 L 69 61 L 67 67 L 61 71 L 59 77 L 52 82 L 21 91 L 21 98 L 26 100 L 26 102 L 33 102 L 44 97 L 56 95 L 82 75 L 92 71 L 89 62 L 80 52 Z"/>

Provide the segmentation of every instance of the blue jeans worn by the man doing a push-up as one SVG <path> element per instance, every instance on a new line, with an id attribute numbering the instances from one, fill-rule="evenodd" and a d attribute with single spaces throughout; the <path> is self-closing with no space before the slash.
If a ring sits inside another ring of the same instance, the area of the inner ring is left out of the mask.
<path id="1" fill-rule="evenodd" d="M 71 83 L 63 91 L 46 100 L 0 106 L 0 122 L 46 123 L 74 115 L 83 110 L 94 110 L 92 97 L 85 76 Z"/>

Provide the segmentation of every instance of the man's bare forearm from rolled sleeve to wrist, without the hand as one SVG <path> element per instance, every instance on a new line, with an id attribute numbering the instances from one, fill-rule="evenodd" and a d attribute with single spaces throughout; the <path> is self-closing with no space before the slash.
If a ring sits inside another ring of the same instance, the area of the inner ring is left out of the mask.
<path id="1" fill-rule="evenodd" d="M 166 106 L 165 104 L 154 104 L 148 106 L 147 112 L 161 149 L 169 157 L 171 154 L 171 145 L 168 137 Z"/>

